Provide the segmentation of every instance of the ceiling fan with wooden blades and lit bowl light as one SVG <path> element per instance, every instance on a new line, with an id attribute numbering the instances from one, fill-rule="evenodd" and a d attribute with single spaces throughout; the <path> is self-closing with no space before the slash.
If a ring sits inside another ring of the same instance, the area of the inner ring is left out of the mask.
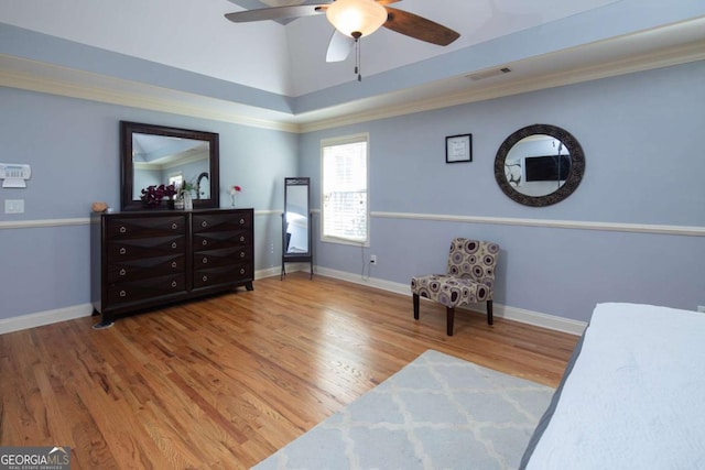
<path id="1" fill-rule="evenodd" d="M 227 13 L 225 18 L 235 23 L 246 23 L 325 13 L 330 24 L 335 28 L 328 42 L 326 62 L 345 61 L 360 37 L 373 33 L 380 26 L 442 46 L 446 46 L 460 37 L 457 32 L 434 21 L 404 10 L 388 7 L 390 3 L 399 1 L 401 0 L 332 0 L 315 4 L 291 4 L 292 2 L 286 2 L 290 4 Z"/>

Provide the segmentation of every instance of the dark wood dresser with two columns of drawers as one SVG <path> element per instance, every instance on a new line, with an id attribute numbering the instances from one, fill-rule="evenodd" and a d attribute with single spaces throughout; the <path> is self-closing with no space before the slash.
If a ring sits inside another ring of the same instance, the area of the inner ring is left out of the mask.
<path id="1" fill-rule="evenodd" d="M 238 286 L 252 291 L 252 209 L 94 214 L 91 302 L 116 315 Z"/>

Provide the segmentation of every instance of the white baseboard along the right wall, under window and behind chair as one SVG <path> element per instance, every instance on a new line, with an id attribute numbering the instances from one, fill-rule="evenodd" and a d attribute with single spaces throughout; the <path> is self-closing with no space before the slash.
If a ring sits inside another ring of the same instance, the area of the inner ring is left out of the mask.
<path id="1" fill-rule="evenodd" d="M 409 284 L 401 284 L 391 281 L 379 280 L 375 277 L 360 277 L 359 274 L 352 274 L 345 271 L 329 270 L 327 267 L 317 267 L 316 274 L 327 277 L 334 277 L 340 281 L 351 282 L 354 284 L 366 285 L 369 287 L 379 288 L 382 291 L 393 292 L 394 294 L 409 295 L 411 297 L 411 291 Z M 527 325 L 532 325 L 541 328 L 546 328 L 555 331 L 563 331 L 571 335 L 583 335 L 583 331 L 587 327 L 585 321 L 573 320 L 571 318 L 556 317 L 554 315 L 542 314 L 540 311 L 527 310 L 525 308 L 517 308 L 508 305 L 494 303 L 495 317 L 506 318 L 508 320 L 519 321 Z M 411 300 L 409 303 L 411 311 Z M 477 304 L 473 306 L 473 311 L 480 311 L 487 315 L 485 304 Z"/>

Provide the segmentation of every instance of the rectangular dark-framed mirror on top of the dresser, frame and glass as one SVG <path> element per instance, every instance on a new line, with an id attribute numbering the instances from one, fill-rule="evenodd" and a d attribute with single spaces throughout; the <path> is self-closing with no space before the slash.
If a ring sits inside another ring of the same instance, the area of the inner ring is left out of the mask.
<path id="1" fill-rule="evenodd" d="M 142 189 L 162 184 L 191 185 L 194 209 L 220 207 L 217 133 L 120 121 L 120 160 L 122 210 L 143 209 Z"/>

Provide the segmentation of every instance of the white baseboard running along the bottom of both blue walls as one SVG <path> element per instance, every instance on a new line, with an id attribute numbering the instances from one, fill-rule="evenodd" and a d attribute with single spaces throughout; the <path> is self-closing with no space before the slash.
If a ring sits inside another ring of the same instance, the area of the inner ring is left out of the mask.
<path id="1" fill-rule="evenodd" d="M 292 263 L 286 266 L 290 273 L 296 271 L 308 271 L 307 263 Z M 265 270 L 258 270 L 254 278 L 273 277 L 281 274 L 281 266 L 273 266 Z M 362 278 L 359 274 L 352 274 L 345 271 L 329 270 L 327 267 L 317 267 L 316 275 L 334 277 L 341 281 L 351 282 L 354 284 L 367 285 L 369 287 L 379 288 L 395 294 L 409 295 L 411 291 L 409 284 L 401 284 L 391 281 L 379 280 L 376 277 Z M 495 303 L 495 316 L 507 318 L 509 320 L 522 324 L 533 325 L 556 331 L 564 331 L 572 335 L 582 335 L 587 324 L 585 321 L 572 320 L 570 318 L 556 317 L 553 315 L 541 314 L 539 311 L 527 310 L 524 308 L 510 307 L 507 305 Z M 410 300 L 411 308 L 411 300 Z M 474 306 L 474 311 L 486 314 L 485 304 Z M 73 320 L 75 318 L 89 317 L 93 314 L 93 305 L 83 304 L 73 307 L 58 308 L 56 310 L 40 311 L 36 314 L 23 315 L 20 317 L 7 318 L 0 320 L 0 335 L 6 332 L 19 331 L 22 329 L 41 327 L 44 325 L 56 324 L 58 321 Z"/>

